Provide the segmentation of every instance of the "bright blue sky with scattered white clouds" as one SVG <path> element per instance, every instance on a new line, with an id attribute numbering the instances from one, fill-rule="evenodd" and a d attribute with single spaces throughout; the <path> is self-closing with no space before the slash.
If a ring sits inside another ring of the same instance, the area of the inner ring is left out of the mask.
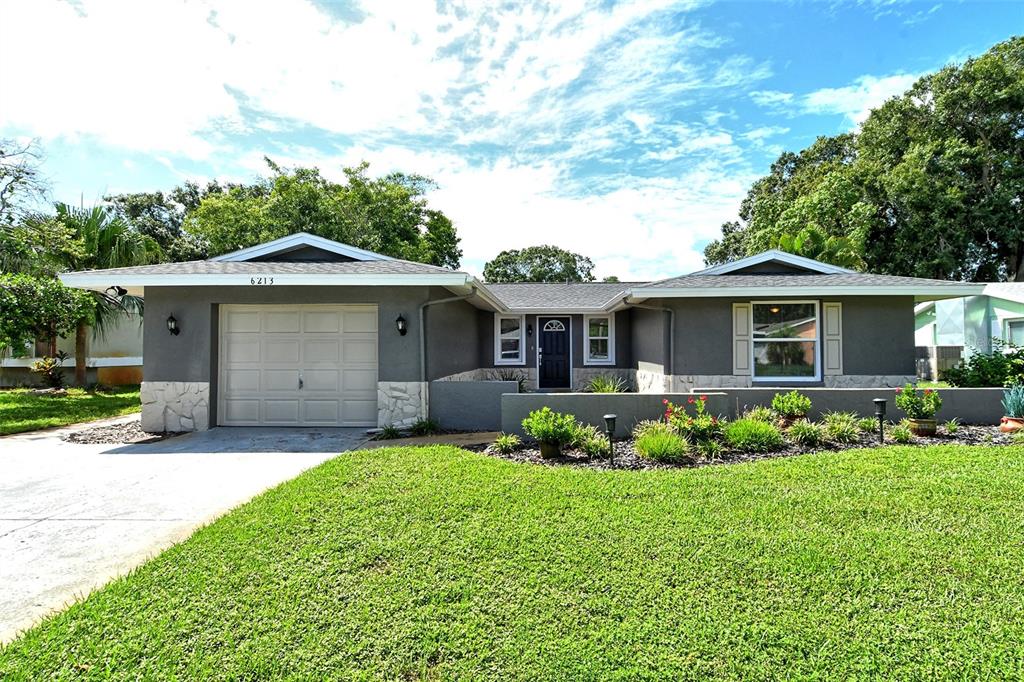
<path id="1" fill-rule="evenodd" d="M 0 0 L 0 136 L 53 198 L 328 175 L 433 177 L 479 272 L 556 244 L 599 275 L 701 264 L 782 150 L 855 128 L 1024 27 L 1018 2 Z"/>

